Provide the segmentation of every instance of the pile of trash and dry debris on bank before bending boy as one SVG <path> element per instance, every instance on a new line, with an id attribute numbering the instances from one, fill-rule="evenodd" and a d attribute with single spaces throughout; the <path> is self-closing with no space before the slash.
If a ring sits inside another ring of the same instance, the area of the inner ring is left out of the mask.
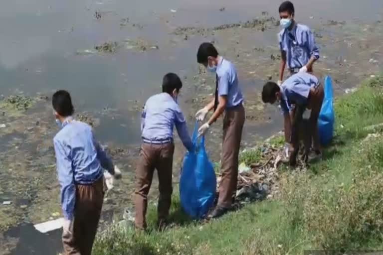
<path id="1" fill-rule="evenodd" d="M 261 159 L 257 163 L 246 166 L 241 163 L 238 167 L 237 191 L 233 206 L 239 208 L 257 200 L 271 199 L 279 192 L 279 175 L 277 168 L 286 160 L 283 156 L 283 146 L 265 143 L 256 148 L 261 151 Z M 221 177 L 217 178 L 220 183 Z M 219 184 L 217 192 L 219 189 Z"/>

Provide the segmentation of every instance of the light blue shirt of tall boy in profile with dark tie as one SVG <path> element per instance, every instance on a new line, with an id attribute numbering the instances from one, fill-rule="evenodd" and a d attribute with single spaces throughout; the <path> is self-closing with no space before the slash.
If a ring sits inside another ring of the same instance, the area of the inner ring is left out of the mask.
<path id="1" fill-rule="evenodd" d="M 226 109 L 241 104 L 243 96 L 238 85 L 238 76 L 234 65 L 221 57 L 216 73 L 218 76 L 218 96 L 227 96 Z"/>

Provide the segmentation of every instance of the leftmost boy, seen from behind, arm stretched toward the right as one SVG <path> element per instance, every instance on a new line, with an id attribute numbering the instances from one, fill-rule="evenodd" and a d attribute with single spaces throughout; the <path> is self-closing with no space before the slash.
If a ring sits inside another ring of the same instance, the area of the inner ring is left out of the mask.
<path id="1" fill-rule="evenodd" d="M 61 185 L 64 254 L 91 255 L 104 199 L 103 168 L 115 178 L 121 172 L 94 139 L 92 128 L 72 118 L 67 91 L 54 93 L 52 105 L 60 128 L 53 144 Z"/>

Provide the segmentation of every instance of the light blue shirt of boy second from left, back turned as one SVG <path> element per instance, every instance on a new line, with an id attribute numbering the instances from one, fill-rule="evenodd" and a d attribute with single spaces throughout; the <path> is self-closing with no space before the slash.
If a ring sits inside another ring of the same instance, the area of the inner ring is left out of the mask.
<path id="1" fill-rule="evenodd" d="M 188 150 L 193 149 L 192 139 L 180 106 L 168 93 L 150 97 L 144 106 L 141 118 L 142 138 L 150 141 L 173 140 L 173 128 Z"/>

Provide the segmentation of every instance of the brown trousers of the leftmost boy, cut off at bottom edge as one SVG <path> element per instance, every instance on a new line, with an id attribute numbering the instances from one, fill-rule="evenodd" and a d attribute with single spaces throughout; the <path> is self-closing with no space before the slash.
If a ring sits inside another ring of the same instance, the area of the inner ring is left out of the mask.
<path id="1" fill-rule="evenodd" d="M 91 255 L 103 201 L 103 177 L 93 184 L 76 185 L 73 226 L 62 234 L 64 255 Z"/>

